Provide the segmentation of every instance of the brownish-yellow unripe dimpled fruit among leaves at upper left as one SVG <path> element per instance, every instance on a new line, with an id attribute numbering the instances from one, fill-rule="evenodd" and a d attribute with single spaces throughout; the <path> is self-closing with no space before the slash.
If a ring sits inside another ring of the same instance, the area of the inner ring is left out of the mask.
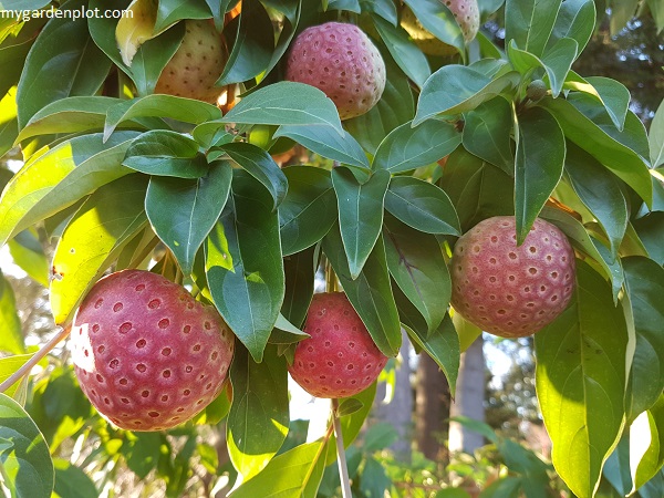
<path id="1" fill-rule="evenodd" d="M 181 44 L 162 71 L 154 93 L 214 104 L 221 93 L 215 83 L 227 61 L 226 43 L 211 22 L 186 21 Z"/>

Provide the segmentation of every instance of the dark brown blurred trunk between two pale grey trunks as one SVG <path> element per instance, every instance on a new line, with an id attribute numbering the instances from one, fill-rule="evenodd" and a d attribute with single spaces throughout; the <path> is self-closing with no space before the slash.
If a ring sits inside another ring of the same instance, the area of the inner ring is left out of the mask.
<path id="1" fill-rule="evenodd" d="M 449 417 L 449 385 L 428 354 L 419 355 L 415 403 L 417 449 L 430 460 L 446 460 L 443 442 Z"/>

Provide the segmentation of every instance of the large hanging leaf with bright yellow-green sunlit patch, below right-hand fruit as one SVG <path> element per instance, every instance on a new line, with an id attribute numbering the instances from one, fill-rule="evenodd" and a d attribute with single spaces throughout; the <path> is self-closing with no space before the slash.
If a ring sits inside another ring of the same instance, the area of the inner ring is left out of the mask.
<path id="1" fill-rule="evenodd" d="M 624 424 L 627 328 L 611 287 L 582 261 L 577 286 L 569 308 L 535 336 L 536 380 L 556 470 L 590 498 Z"/>

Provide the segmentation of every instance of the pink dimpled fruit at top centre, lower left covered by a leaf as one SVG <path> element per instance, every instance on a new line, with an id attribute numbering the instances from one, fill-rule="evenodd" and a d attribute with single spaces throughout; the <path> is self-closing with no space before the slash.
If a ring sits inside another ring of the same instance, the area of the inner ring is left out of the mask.
<path id="1" fill-rule="evenodd" d="M 385 90 L 385 62 L 354 24 L 328 22 L 307 28 L 288 56 L 286 79 L 322 90 L 342 120 L 370 111 Z"/>

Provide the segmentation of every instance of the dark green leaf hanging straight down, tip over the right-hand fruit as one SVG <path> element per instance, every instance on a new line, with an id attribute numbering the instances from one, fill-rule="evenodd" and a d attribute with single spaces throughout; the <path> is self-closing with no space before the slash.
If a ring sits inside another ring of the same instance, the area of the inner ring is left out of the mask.
<path id="1" fill-rule="evenodd" d="M 566 143 L 558 122 L 541 108 L 521 114 L 518 125 L 515 207 L 521 245 L 562 177 Z"/>

